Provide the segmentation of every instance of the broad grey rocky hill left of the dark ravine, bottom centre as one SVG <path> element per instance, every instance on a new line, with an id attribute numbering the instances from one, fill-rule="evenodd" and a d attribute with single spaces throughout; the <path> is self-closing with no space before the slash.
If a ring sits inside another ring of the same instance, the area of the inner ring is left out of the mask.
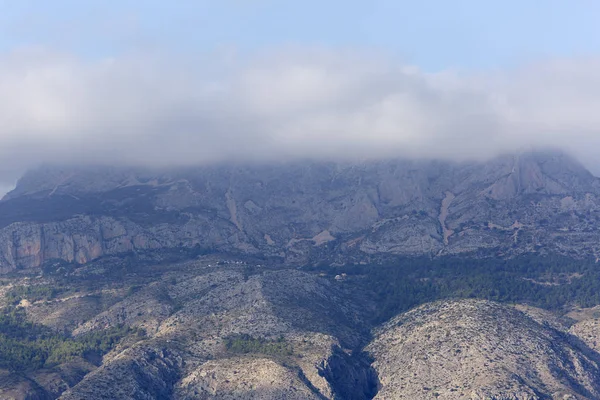
<path id="1" fill-rule="evenodd" d="M 180 264 L 75 326 L 77 336 L 126 324 L 147 338 L 106 355 L 61 398 L 371 398 L 376 376 L 352 352 L 369 337 L 369 300 L 314 275 L 255 268 L 249 274 L 237 263 Z M 79 300 L 61 304 L 69 302 Z M 39 318 L 53 303 L 27 312 Z M 266 345 L 228 350 L 230 337 Z"/>

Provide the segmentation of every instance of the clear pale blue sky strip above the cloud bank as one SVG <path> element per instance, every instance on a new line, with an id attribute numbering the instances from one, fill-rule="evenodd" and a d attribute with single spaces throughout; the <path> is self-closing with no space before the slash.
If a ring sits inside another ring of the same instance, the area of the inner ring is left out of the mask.
<path id="1" fill-rule="evenodd" d="M 374 48 L 435 71 L 600 52 L 594 0 L 0 0 L 0 49 Z"/>

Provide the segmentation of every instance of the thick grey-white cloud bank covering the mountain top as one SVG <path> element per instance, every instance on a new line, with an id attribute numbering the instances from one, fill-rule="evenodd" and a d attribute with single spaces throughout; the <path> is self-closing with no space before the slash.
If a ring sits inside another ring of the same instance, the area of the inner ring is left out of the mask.
<path id="1" fill-rule="evenodd" d="M 592 162 L 599 71 L 600 59 L 571 59 L 425 73 L 326 49 L 95 61 L 4 53 L 0 181 L 42 162 L 467 159 L 529 147 L 562 147 Z"/>

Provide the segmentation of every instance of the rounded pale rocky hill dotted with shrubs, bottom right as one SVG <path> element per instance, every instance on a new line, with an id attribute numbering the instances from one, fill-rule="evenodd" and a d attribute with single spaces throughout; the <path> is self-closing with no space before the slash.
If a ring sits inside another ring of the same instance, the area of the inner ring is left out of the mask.
<path id="1" fill-rule="evenodd" d="M 463 300 L 393 318 L 367 347 L 376 399 L 600 398 L 599 354 L 540 315 Z"/>

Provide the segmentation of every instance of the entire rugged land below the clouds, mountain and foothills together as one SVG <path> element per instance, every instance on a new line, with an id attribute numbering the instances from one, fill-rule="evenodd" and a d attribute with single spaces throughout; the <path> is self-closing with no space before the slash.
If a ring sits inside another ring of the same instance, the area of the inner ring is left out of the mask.
<path id="1" fill-rule="evenodd" d="M 599 399 L 599 220 L 558 153 L 41 168 L 0 201 L 0 398 Z"/>

